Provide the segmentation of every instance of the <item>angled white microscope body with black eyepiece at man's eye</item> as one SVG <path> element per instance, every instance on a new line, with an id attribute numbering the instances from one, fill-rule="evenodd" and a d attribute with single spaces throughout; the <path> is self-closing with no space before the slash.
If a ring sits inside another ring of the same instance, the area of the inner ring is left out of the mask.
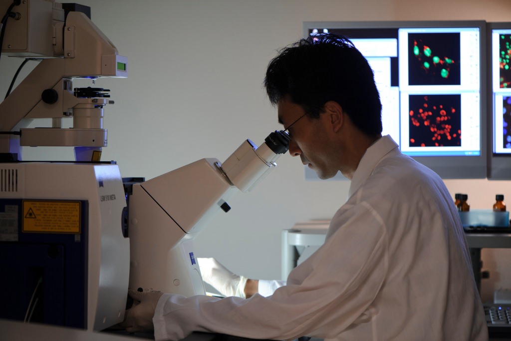
<path id="1" fill-rule="evenodd" d="M 274 131 L 259 148 L 250 140 L 221 164 L 204 158 L 133 186 L 129 199 L 130 288 L 204 294 L 193 239 L 236 192 L 252 189 L 288 150 Z"/>

